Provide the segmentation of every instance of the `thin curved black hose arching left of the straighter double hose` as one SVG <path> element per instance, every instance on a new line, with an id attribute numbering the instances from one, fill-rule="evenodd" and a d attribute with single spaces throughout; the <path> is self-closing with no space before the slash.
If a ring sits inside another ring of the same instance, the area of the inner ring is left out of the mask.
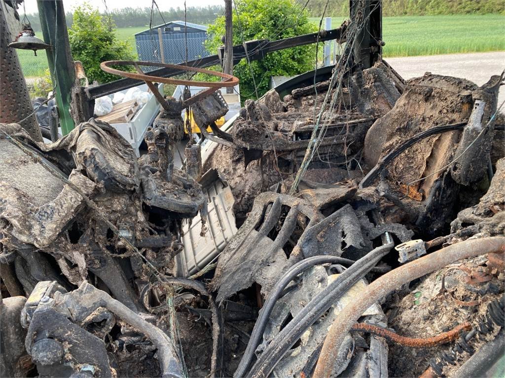
<path id="1" fill-rule="evenodd" d="M 267 322 L 268 319 L 270 318 L 272 309 L 274 308 L 275 303 L 277 303 L 277 300 L 279 299 L 280 295 L 282 294 L 286 286 L 289 284 L 289 282 L 291 282 L 293 278 L 295 278 L 301 272 L 304 272 L 305 270 L 315 265 L 327 264 L 327 263 L 352 265 L 354 264 L 354 261 L 336 256 L 314 256 L 304 259 L 293 265 L 291 268 L 289 268 L 289 270 L 286 273 L 284 273 L 281 279 L 275 284 L 270 295 L 263 304 L 263 307 L 260 311 L 260 316 L 258 317 L 255 323 L 254 329 L 252 329 L 252 333 L 249 338 L 247 348 L 245 348 L 242 359 L 240 360 L 240 363 L 238 364 L 238 367 L 235 370 L 233 376 L 236 377 L 244 376 L 252 360 L 252 357 L 254 356 L 255 350 L 261 342 L 263 332 L 265 331 L 265 327 L 267 326 Z"/>

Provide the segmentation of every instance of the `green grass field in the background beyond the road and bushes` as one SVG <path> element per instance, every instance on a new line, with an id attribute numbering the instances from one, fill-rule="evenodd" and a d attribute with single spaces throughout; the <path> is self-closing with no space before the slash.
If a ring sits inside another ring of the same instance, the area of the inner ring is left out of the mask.
<path id="1" fill-rule="evenodd" d="M 311 20 L 319 25 L 320 19 Z M 342 20 L 333 18 L 332 27 Z M 134 34 L 145 29 L 120 28 L 117 35 L 135 51 Z M 384 17 L 382 29 L 385 57 L 505 50 L 505 16 L 500 15 Z M 44 51 L 39 56 L 30 50 L 18 50 L 18 54 L 26 77 L 43 75 L 47 68 Z"/>

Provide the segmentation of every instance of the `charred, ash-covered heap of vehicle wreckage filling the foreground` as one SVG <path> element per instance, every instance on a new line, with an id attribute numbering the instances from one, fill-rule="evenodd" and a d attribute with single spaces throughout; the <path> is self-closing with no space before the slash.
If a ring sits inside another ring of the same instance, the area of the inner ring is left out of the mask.
<path id="1" fill-rule="evenodd" d="M 138 159 L 102 121 L 51 144 L 0 124 L 2 376 L 495 372 L 503 75 L 406 82 L 361 68 L 357 36 L 328 80 L 201 128 L 181 169 L 172 100 Z"/>

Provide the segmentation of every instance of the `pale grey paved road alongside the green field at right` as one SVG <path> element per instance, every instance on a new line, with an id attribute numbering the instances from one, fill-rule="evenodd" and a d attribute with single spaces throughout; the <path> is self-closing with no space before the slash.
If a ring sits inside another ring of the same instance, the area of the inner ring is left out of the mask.
<path id="1" fill-rule="evenodd" d="M 403 79 L 423 76 L 425 72 L 454 76 L 473 81 L 477 85 L 486 83 L 492 75 L 505 70 L 505 51 L 474 52 L 469 54 L 447 54 L 430 56 L 408 56 L 385 58 Z M 505 86 L 500 88 L 498 106 L 505 101 Z M 504 112 L 505 105 L 501 108 Z"/>

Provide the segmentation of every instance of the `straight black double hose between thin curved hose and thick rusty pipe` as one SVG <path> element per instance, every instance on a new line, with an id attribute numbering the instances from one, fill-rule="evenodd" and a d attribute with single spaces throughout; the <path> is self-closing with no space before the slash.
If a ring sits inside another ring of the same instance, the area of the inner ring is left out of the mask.
<path id="1" fill-rule="evenodd" d="M 312 298 L 272 340 L 252 366 L 249 373 L 244 375 L 254 377 L 269 376 L 275 365 L 307 328 L 313 325 L 352 285 L 363 278 L 382 257 L 387 255 L 392 246 L 393 243 L 390 242 L 373 249 Z"/>

